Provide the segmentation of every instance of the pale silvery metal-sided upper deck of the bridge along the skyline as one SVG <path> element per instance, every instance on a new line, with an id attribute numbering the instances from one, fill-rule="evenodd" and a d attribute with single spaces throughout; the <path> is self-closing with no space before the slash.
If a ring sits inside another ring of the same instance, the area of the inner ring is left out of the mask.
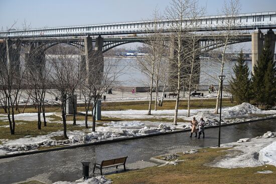
<path id="1" fill-rule="evenodd" d="M 234 21 L 232 30 L 276 29 L 276 12 L 259 12 L 238 14 L 234 17 L 225 15 L 206 16 L 196 21 L 189 18 L 183 21 L 183 29 L 189 31 L 196 24 L 197 31 L 220 31 L 227 27 L 228 19 Z M 0 32 L 0 39 L 7 38 L 42 38 L 42 37 L 71 37 L 71 36 L 99 36 L 145 34 L 157 29 L 162 32 L 172 32 L 172 27 L 179 24 L 175 20 L 135 21 L 86 26 L 68 26 L 55 28 L 41 28 L 28 30 L 9 30 Z"/>

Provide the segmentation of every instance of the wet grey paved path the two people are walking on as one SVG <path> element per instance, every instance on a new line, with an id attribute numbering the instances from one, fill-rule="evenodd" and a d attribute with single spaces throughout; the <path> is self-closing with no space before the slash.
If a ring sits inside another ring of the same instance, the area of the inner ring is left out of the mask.
<path id="1" fill-rule="evenodd" d="M 266 131 L 276 131 L 276 119 L 224 126 L 221 128 L 221 143 L 256 137 Z M 190 138 L 189 135 L 190 132 L 181 132 L 0 159 L 0 183 L 13 183 L 30 178 L 47 183 L 58 180 L 75 181 L 82 176 L 82 161 L 93 163 L 128 156 L 126 168 L 134 169 L 143 165 L 141 160 L 148 164 L 153 156 L 217 145 L 218 142 L 218 128 L 206 129 L 205 139 Z M 91 167 L 92 165 L 90 175 Z M 108 169 L 104 169 L 103 173 L 107 171 Z"/>

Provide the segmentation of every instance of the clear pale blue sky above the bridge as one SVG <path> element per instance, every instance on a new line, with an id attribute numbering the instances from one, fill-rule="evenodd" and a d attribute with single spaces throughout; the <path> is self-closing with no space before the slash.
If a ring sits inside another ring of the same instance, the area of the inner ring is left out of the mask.
<path id="1" fill-rule="evenodd" d="M 207 15 L 217 15 L 223 0 L 199 0 Z M 241 13 L 276 11 L 276 0 L 240 0 Z M 22 28 L 24 20 L 32 28 L 89 25 L 151 19 L 170 0 L 0 0 L 0 30 Z"/>

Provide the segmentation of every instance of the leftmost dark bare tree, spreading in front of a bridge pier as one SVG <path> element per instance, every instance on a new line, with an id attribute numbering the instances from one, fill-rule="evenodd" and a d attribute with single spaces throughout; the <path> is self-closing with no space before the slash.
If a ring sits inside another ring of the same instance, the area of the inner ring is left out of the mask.
<path id="1" fill-rule="evenodd" d="M 0 45 L 0 87 L 2 107 L 8 114 L 11 134 L 15 134 L 15 111 L 24 85 L 27 66 L 20 62 L 21 41 L 7 39 Z"/>

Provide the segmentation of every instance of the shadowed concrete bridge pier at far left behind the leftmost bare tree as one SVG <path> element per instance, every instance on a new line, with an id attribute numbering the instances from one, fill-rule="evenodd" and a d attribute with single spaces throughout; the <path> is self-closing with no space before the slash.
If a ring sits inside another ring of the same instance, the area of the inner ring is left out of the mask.
<path id="1" fill-rule="evenodd" d="M 21 41 L 19 39 L 15 43 L 10 39 L 6 40 L 8 72 L 15 79 L 20 77 L 20 49 Z"/>

